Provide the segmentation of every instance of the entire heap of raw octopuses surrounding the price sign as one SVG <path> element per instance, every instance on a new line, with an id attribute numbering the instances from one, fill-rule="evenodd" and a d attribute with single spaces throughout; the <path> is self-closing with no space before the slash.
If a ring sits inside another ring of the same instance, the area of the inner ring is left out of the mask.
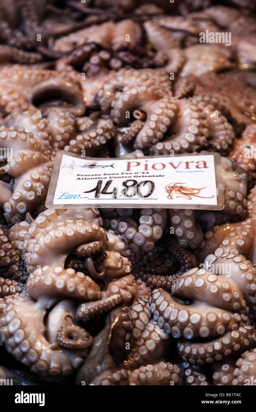
<path id="1" fill-rule="evenodd" d="M 255 13 L 249 0 L 1 2 L 0 379 L 256 379 Z M 224 31 L 228 47 L 200 41 Z M 58 150 L 217 152 L 224 208 L 47 209 Z"/>

